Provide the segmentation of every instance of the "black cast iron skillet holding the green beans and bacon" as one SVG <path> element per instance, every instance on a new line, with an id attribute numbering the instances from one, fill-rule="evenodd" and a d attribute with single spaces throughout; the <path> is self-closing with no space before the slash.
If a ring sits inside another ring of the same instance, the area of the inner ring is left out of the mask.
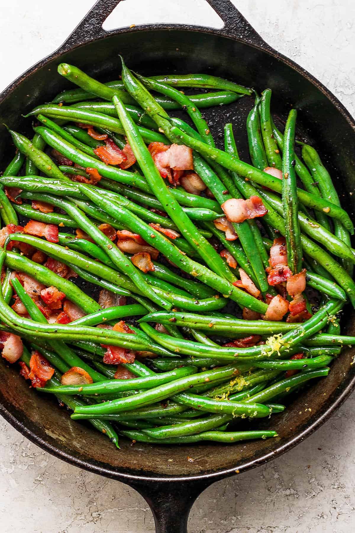
<path id="1" fill-rule="evenodd" d="M 131 68 L 146 74 L 212 72 L 259 91 L 270 87 L 278 117 L 283 119 L 290 105 L 300 110 L 299 126 L 332 169 L 340 195 L 352 190 L 355 124 L 346 109 L 308 72 L 263 42 L 231 2 L 208 2 L 225 22 L 220 30 L 149 25 L 106 32 L 102 23 L 119 2 L 98 0 L 59 50 L 2 93 L 0 123 L 30 133 L 21 113 L 69 87 L 56 75 L 59 62 L 76 64 L 95 77 L 117 79 L 120 53 Z M 217 138 L 227 120 L 233 120 L 238 139 L 238 128 L 244 132 L 239 141 L 242 157 L 247 157 L 244 125 L 250 106 L 251 100 L 242 99 L 234 107 L 221 108 L 219 121 L 214 111 L 207 112 Z M 0 154 L 4 168 L 13 154 L 5 131 L 0 135 Z M 353 198 L 346 196 L 343 202 L 348 211 L 354 207 Z M 343 328 L 347 334 L 354 334 L 354 313 L 348 309 L 345 314 Z M 312 383 L 301 400 L 295 399 L 283 414 L 273 417 L 272 427 L 278 438 L 242 445 L 132 446 L 122 438 L 121 450 L 116 450 L 104 436 L 71 421 L 55 402 L 29 389 L 18 370 L 5 365 L 0 373 L 0 411 L 17 430 L 49 453 L 134 487 L 151 506 L 156 531 L 183 533 L 195 498 L 211 483 L 284 453 L 334 413 L 355 385 L 355 367 L 350 363 L 351 350 L 345 350 L 329 377 Z M 270 422 L 259 424 L 267 427 Z"/>

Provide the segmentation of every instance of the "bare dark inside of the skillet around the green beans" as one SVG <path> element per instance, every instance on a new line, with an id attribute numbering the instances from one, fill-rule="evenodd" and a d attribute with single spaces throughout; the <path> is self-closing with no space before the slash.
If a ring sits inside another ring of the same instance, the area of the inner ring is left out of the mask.
<path id="1" fill-rule="evenodd" d="M 314 144 L 332 171 L 343 206 L 353 213 L 355 132 L 353 124 L 343 113 L 339 102 L 332 101 L 323 88 L 303 76 L 277 54 L 251 45 L 233 41 L 198 30 L 149 29 L 134 33 L 113 34 L 100 41 L 77 47 L 24 76 L 0 103 L 0 123 L 31 134 L 26 114 L 39 103 L 50 101 L 69 83 L 56 74 L 61 61 L 76 64 L 101 80 L 117 79 L 119 57 L 122 54 L 130 68 L 143 74 L 211 72 L 233 79 L 257 91 L 273 90 L 273 111 L 280 123 L 291 106 L 299 110 L 298 127 L 301 138 Z M 301 69 L 300 69 L 301 70 Z M 242 158 L 247 160 L 245 120 L 252 105 L 251 98 L 243 98 L 232 106 L 205 110 L 216 140 L 222 141 L 225 122 L 232 122 Z M 13 146 L 5 128 L 1 126 L 1 167 L 13 156 Z M 354 334 L 354 314 L 344 313 L 344 331 Z M 351 369 L 351 350 L 333 365 L 326 380 L 313 383 L 299 400 L 294 399 L 287 410 L 270 421 L 261 421 L 262 428 L 276 429 L 279 437 L 266 441 L 226 446 L 204 443 L 193 446 L 134 446 L 121 439 L 116 450 L 104 436 L 89 426 L 71 421 L 53 401 L 29 389 L 18 370 L 1 363 L 0 402 L 5 416 L 29 438 L 60 454 L 69 461 L 99 471 L 110 477 L 122 474 L 148 477 L 196 477 L 217 473 L 265 460 L 276 449 L 284 449 L 333 406 L 341 394 L 348 391 L 354 371 Z M 255 424 L 253 424 L 255 425 Z M 194 461 L 191 461 L 191 458 Z"/>

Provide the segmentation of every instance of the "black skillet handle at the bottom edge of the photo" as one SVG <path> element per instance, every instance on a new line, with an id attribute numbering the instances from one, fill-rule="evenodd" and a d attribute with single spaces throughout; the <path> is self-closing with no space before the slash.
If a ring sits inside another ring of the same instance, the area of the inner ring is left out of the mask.
<path id="1" fill-rule="evenodd" d="M 191 507 L 212 480 L 148 481 L 129 485 L 143 496 L 154 516 L 155 533 L 187 533 Z M 127 481 L 125 481 L 127 482 Z"/>

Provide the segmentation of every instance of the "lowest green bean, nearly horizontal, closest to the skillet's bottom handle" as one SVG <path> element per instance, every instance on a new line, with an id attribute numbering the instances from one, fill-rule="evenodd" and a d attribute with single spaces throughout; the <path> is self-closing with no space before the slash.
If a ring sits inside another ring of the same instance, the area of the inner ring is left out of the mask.
<path id="1" fill-rule="evenodd" d="M 232 444 L 233 442 L 239 442 L 241 440 L 250 439 L 267 439 L 270 437 L 277 437 L 276 431 L 203 431 L 197 435 L 188 435 L 183 437 L 167 438 L 167 439 L 154 439 L 148 437 L 142 431 L 134 430 L 120 430 L 120 435 L 127 437 L 128 439 L 137 442 L 147 442 L 151 444 L 189 444 L 191 442 L 200 441 L 213 441 L 222 442 L 224 444 Z"/>

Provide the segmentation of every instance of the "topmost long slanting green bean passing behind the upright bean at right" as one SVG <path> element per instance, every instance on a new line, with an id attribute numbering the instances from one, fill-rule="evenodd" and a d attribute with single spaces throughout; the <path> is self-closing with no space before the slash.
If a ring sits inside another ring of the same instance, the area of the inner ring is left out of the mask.
<path id="1" fill-rule="evenodd" d="M 241 176 L 247 177 L 256 183 L 259 183 L 260 185 L 265 185 L 265 187 L 268 187 L 271 190 L 282 192 L 283 180 L 278 180 L 276 177 L 274 178 L 273 176 L 270 176 L 269 174 L 266 174 L 265 172 L 262 172 L 261 170 L 254 168 L 251 165 L 248 165 L 247 163 L 230 156 L 229 154 L 226 154 L 226 152 L 223 152 L 222 150 L 210 147 L 207 144 L 194 139 L 189 135 L 186 135 L 183 131 L 179 130 L 179 128 L 175 126 L 171 127 L 171 133 L 179 138 L 179 142 L 181 144 L 189 146 L 190 148 L 200 152 L 200 154 L 203 156 L 214 159 L 221 166 L 237 172 Z M 297 189 L 297 196 L 300 202 L 308 207 L 317 209 L 317 211 L 324 211 L 324 209 L 326 209 L 328 216 L 339 220 L 344 224 L 346 229 L 348 229 L 351 233 L 353 232 L 353 224 L 349 215 L 339 206 L 336 206 L 335 204 L 332 204 L 323 198 L 317 198 L 314 195 L 310 195 L 308 192 L 303 191 L 302 189 Z"/>

